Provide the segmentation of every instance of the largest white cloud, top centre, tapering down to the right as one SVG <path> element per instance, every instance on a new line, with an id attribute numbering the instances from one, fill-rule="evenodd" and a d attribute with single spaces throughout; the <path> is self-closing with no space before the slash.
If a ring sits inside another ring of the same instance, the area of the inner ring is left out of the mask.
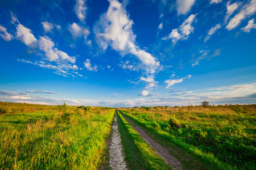
<path id="1" fill-rule="evenodd" d="M 155 73 L 160 64 L 150 53 L 135 45 L 136 36 L 131 29 L 133 21 L 129 19 L 125 7 L 116 0 L 109 2 L 108 11 L 100 16 L 93 27 L 98 46 L 106 50 L 110 45 L 122 56 L 133 54 L 141 61 L 143 70 Z"/>

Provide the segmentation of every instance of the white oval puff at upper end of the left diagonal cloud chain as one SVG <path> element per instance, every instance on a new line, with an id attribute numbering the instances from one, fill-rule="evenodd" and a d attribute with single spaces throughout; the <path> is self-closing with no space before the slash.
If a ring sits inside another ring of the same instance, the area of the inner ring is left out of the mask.
<path id="1" fill-rule="evenodd" d="M 36 38 L 34 35 L 31 33 L 31 30 L 24 27 L 22 24 L 18 24 L 17 27 L 17 32 L 16 32 L 16 39 L 22 41 L 24 44 L 26 44 L 29 47 L 35 47 L 36 46 Z"/>

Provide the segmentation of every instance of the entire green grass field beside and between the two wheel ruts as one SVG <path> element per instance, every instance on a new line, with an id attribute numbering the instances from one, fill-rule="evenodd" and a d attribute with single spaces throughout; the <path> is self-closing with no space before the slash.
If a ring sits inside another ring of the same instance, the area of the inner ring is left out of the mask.
<path id="1" fill-rule="evenodd" d="M 256 105 L 119 109 L 187 169 L 256 169 Z M 0 169 L 109 169 L 115 110 L 0 102 Z M 117 114 L 130 169 L 171 169 Z M 186 157 L 187 156 L 187 157 Z"/>

